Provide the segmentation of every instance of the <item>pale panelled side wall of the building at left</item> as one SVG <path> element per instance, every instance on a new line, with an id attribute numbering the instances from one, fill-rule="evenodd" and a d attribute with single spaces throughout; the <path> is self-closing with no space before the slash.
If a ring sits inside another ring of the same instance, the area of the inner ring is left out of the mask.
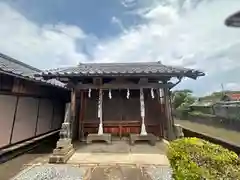
<path id="1" fill-rule="evenodd" d="M 0 148 L 60 128 L 64 105 L 47 98 L 0 95 Z"/>

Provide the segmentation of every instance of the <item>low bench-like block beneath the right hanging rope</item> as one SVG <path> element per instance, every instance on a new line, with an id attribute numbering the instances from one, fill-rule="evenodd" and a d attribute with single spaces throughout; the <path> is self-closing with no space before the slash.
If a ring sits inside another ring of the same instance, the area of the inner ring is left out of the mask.
<path id="1" fill-rule="evenodd" d="M 130 145 L 134 145 L 136 141 L 148 141 L 150 145 L 154 146 L 156 144 L 157 137 L 151 133 L 147 135 L 130 134 L 129 136 Z"/>

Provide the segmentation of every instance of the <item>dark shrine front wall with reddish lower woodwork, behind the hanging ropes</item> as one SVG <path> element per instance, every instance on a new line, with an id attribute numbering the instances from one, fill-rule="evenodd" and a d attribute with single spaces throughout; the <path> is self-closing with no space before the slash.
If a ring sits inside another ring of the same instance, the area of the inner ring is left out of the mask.
<path id="1" fill-rule="evenodd" d="M 92 91 L 91 98 L 85 93 L 84 108 L 82 110 L 83 131 L 88 133 L 97 133 L 99 119 L 98 112 L 98 91 Z M 128 135 L 129 133 L 140 133 L 140 92 L 131 90 L 130 98 L 126 98 L 127 90 L 112 91 L 112 99 L 108 97 L 108 91 L 103 95 L 103 126 L 104 132 L 113 135 Z M 163 122 L 165 113 L 158 102 L 157 94 L 152 99 L 150 91 L 145 91 L 145 124 L 149 133 L 157 136 L 163 136 Z M 80 123 L 80 124 L 81 124 Z"/>

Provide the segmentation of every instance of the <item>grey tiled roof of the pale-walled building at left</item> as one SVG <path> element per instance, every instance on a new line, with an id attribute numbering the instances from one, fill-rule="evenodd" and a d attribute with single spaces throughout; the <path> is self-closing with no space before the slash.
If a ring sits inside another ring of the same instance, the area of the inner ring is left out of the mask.
<path id="1" fill-rule="evenodd" d="M 34 74 L 41 73 L 42 71 L 16 59 L 13 59 L 9 56 L 6 56 L 2 53 L 0 53 L 0 72 L 12 76 L 17 76 L 26 80 L 43 83 L 46 85 L 52 85 L 57 87 L 65 86 L 65 84 L 55 79 L 50 79 L 46 81 L 42 77 L 35 77 Z"/>

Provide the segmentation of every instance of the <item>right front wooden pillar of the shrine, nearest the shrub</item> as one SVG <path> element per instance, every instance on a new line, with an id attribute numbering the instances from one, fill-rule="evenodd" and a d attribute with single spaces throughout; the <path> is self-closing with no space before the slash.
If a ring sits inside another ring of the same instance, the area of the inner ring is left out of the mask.
<path id="1" fill-rule="evenodd" d="M 167 130 L 166 136 L 168 140 L 173 140 L 174 139 L 173 118 L 168 88 L 164 88 L 164 103 L 166 113 L 166 130 Z"/>

